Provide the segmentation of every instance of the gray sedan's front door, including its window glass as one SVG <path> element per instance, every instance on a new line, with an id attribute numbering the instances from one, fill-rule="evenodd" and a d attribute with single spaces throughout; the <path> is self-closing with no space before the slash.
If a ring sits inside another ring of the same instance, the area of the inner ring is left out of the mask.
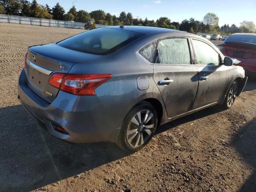
<path id="1" fill-rule="evenodd" d="M 192 39 L 199 86 L 193 109 L 220 101 L 227 90 L 230 66 L 222 65 L 217 48 L 207 42 Z"/>

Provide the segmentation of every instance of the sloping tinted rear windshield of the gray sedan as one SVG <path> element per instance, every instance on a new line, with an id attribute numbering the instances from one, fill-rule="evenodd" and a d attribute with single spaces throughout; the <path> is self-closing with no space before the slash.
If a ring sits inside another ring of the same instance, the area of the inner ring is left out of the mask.
<path id="1" fill-rule="evenodd" d="M 61 42 L 59 46 L 90 54 L 110 54 L 143 34 L 113 28 L 86 31 Z"/>

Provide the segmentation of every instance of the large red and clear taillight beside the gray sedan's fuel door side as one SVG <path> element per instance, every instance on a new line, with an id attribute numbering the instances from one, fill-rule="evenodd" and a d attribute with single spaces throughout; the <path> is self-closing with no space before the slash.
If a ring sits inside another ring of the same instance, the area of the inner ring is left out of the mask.
<path id="1" fill-rule="evenodd" d="M 95 89 L 111 77 L 111 74 L 55 73 L 51 76 L 49 84 L 75 95 L 95 95 Z"/>

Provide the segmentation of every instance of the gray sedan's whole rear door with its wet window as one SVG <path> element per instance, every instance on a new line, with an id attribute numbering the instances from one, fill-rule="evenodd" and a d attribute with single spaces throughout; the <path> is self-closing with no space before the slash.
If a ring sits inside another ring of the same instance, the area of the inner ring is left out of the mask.
<path id="1" fill-rule="evenodd" d="M 158 40 L 154 81 L 161 92 L 168 118 L 190 111 L 198 88 L 198 70 L 192 64 L 190 40 L 168 37 Z"/>

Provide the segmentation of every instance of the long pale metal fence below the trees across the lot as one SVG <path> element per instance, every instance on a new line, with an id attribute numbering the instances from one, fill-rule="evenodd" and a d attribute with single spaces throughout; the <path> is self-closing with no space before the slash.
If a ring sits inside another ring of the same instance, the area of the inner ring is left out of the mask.
<path id="1" fill-rule="evenodd" d="M 46 27 L 84 29 L 84 23 L 80 23 L 80 22 L 40 19 L 40 18 L 22 17 L 22 16 L 15 16 L 15 15 L 0 14 L 0 22 L 38 25 L 38 26 L 46 26 Z M 96 24 L 96 26 L 105 27 L 106 25 Z"/>

